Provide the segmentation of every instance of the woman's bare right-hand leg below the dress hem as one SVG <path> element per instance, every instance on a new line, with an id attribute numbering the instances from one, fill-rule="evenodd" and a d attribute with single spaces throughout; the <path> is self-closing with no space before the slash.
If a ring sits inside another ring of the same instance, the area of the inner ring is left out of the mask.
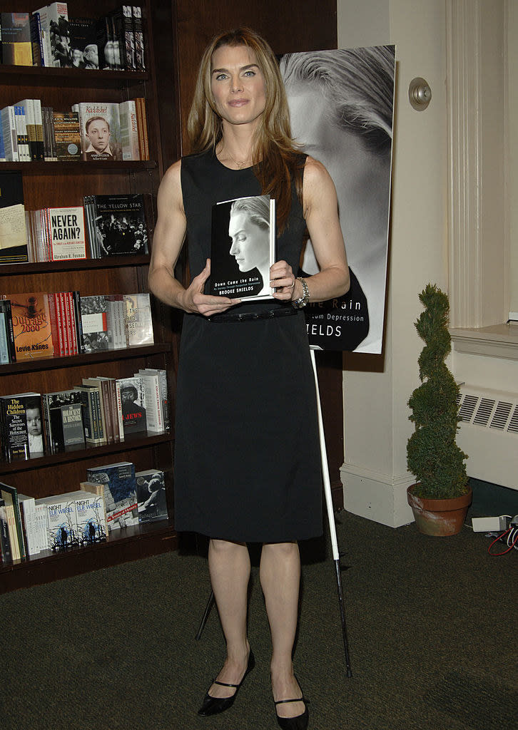
<path id="1" fill-rule="evenodd" d="M 300 585 L 300 555 L 297 542 L 266 543 L 259 570 L 272 634 L 273 699 L 294 699 L 302 691 L 293 674 L 292 651 L 297 631 Z M 303 702 L 276 706 L 279 717 L 296 717 Z"/>

